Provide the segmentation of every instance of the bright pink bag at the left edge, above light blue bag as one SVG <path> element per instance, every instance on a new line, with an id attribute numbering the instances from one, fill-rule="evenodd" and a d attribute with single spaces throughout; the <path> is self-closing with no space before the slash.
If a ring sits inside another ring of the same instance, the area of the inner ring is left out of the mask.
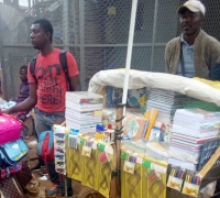
<path id="1" fill-rule="evenodd" d="M 0 114 L 0 145 L 21 136 L 22 124 L 9 114 Z"/>

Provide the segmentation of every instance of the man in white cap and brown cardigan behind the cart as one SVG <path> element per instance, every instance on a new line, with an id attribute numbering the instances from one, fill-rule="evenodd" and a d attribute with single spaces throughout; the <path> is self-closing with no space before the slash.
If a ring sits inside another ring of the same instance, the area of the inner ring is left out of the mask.
<path id="1" fill-rule="evenodd" d="M 188 0 L 177 12 L 182 34 L 166 45 L 166 72 L 209 79 L 210 69 L 220 55 L 220 43 L 201 30 L 206 9 L 199 0 Z"/>

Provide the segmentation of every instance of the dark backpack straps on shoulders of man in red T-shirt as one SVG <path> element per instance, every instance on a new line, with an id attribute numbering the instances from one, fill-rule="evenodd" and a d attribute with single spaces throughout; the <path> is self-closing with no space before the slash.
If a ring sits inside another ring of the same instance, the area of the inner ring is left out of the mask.
<path id="1" fill-rule="evenodd" d="M 35 79 L 35 82 L 37 82 L 36 76 L 35 76 L 36 58 L 37 58 L 37 56 L 32 58 L 30 62 L 30 72 L 31 72 L 31 75 L 33 76 L 33 78 Z M 65 73 L 66 81 L 68 82 L 68 67 L 67 67 L 67 61 L 66 61 L 66 51 L 64 51 L 64 50 L 59 51 L 59 62 L 62 64 L 62 68 L 64 70 L 64 73 Z"/>

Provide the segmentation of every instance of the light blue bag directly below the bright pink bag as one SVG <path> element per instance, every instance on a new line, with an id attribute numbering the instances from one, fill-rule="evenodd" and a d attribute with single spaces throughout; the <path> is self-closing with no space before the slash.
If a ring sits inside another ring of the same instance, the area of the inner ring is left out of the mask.
<path id="1" fill-rule="evenodd" d="M 0 146 L 0 168 L 15 165 L 26 156 L 29 147 L 26 143 L 19 139 Z"/>

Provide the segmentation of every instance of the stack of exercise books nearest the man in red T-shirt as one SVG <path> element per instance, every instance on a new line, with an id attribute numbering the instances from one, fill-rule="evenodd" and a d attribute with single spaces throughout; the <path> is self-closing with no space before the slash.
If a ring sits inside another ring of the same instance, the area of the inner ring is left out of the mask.
<path id="1" fill-rule="evenodd" d="M 80 133 L 96 132 L 101 124 L 103 97 L 88 91 L 66 92 L 66 127 Z"/>

